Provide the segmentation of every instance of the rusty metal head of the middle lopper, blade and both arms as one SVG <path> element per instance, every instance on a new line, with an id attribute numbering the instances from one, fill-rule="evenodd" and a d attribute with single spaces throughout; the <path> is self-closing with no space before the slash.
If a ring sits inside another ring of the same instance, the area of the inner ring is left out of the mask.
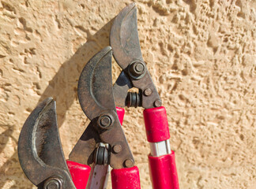
<path id="1" fill-rule="evenodd" d="M 114 169 L 126 167 L 126 159 L 134 162 L 115 109 L 111 83 L 111 47 L 96 54 L 81 72 L 78 98 L 81 108 L 92 120 L 70 153 L 70 160 L 92 165 L 96 144 L 122 146 L 122 153 L 110 151 L 109 164 Z M 106 119 L 106 121 L 105 121 Z M 109 123 L 108 123 L 109 122 Z"/>

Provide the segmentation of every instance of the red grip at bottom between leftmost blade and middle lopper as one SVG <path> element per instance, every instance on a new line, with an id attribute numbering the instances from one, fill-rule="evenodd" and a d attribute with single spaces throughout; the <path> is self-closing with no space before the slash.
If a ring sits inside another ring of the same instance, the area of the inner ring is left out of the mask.
<path id="1" fill-rule="evenodd" d="M 73 183 L 77 189 L 85 189 L 88 176 L 90 175 L 91 167 L 89 165 L 82 165 L 73 161 L 66 161 Z"/>

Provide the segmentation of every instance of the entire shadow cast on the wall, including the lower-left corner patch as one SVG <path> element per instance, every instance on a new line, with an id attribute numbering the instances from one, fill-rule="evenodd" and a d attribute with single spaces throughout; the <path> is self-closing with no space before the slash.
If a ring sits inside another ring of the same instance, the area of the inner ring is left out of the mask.
<path id="1" fill-rule="evenodd" d="M 109 34 L 114 19 L 104 25 L 95 35 L 90 35 L 87 31 L 87 42 L 81 46 L 70 60 L 65 61 L 53 79 L 49 82 L 48 87 L 43 91 L 43 95 L 38 102 L 42 102 L 47 97 L 53 97 L 57 103 L 58 127 L 61 127 L 65 119 L 66 111 L 77 98 L 77 81 L 80 73 L 89 59 L 98 51 L 109 45 Z M 13 130 L 3 132 L 0 135 L 0 152 L 5 149 L 9 137 L 12 137 Z M 15 141 L 17 143 L 17 141 Z M 19 169 L 20 168 L 20 169 Z M 6 172 L 0 178 L 0 188 L 10 185 L 11 189 L 22 186 L 22 188 L 32 188 L 32 183 L 27 180 L 21 170 L 18 161 L 17 150 L 4 165 L 0 167 L 0 172 Z M 26 187 L 24 187 L 26 186 Z"/>

